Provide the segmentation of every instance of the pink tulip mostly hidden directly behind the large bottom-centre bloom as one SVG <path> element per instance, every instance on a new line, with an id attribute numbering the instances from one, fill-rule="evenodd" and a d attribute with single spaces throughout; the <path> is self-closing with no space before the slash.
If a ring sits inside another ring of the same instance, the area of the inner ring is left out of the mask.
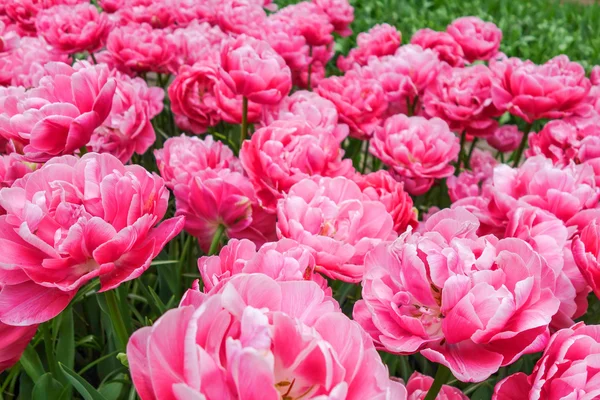
<path id="1" fill-rule="evenodd" d="M 327 281 L 314 273 L 315 258 L 310 248 L 291 239 L 266 243 L 258 251 L 249 240 L 231 239 L 219 255 L 198 259 L 198 270 L 205 292 L 221 281 L 243 273 L 261 273 L 276 281 L 314 280 L 327 292 Z"/>

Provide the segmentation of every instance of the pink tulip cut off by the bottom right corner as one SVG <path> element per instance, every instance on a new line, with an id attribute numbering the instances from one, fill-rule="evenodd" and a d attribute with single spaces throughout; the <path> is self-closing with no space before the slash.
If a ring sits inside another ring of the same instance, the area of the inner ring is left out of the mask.
<path id="1" fill-rule="evenodd" d="M 531 375 L 518 372 L 496 384 L 494 400 L 595 399 L 600 396 L 600 326 L 583 323 L 550 338 Z"/>

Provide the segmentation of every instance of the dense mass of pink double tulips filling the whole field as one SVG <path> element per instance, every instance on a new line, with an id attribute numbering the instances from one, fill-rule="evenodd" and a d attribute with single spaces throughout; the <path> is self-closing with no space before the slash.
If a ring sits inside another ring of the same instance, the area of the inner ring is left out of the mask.
<path id="1" fill-rule="evenodd" d="M 600 397 L 600 67 L 476 17 L 336 54 L 347 0 L 92 3 L 0 4 L 0 371 L 103 296 L 143 400 Z"/>

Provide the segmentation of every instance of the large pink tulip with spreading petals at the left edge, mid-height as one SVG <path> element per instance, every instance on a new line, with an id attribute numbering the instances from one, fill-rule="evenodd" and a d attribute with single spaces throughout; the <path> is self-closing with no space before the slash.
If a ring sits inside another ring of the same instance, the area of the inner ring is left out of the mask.
<path id="1" fill-rule="evenodd" d="M 101 291 L 139 277 L 183 227 L 157 225 L 162 179 L 108 154 L 56 157 L 0 190 L 0 321 L 32 325 L 58 315 L 99 277 Z"/>

